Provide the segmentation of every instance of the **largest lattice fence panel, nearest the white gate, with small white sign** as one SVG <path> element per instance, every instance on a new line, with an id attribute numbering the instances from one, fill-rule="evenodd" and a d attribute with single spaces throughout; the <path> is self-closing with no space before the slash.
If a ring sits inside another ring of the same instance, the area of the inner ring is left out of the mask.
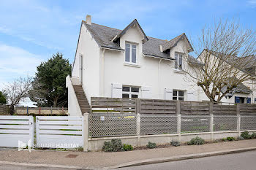
<path id="1" fill-rule="evenodd" d="M 135 113 L 93 113 L 89 115 L 89 136 L 132 136 L 137 134 Z"/>

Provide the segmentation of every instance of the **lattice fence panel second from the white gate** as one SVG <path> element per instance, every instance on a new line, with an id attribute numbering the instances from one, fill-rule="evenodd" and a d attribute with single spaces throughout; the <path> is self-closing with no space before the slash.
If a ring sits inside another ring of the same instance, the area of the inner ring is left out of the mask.
<path id="1" fill-rule="evenodd" d="M 167 114 L 141 114 L 140 134 L 176 134 L 177 117 Z"/>

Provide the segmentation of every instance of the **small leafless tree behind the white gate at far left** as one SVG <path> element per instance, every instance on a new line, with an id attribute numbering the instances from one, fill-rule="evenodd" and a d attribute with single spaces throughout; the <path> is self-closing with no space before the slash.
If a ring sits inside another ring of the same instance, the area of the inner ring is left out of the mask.
<path id="1" fill-rule="evenodd" d="M 9 82 L 4 87 L 4 93 L 7 94 L 7 100 L 10 103 L 10 114 L 14 114 L 14 107 L 24 101 L 29 96 L 32 77 L 20 77 L 13 82 Z"/>

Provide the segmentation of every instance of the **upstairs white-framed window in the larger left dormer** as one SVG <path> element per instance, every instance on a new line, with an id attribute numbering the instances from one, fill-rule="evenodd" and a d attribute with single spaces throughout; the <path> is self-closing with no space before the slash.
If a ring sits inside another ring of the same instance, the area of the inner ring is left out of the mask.
<path id="1" fill-rule="evenodd" d="M 125 62 L 137 63 L 137 45 L 125 43 Z"/>

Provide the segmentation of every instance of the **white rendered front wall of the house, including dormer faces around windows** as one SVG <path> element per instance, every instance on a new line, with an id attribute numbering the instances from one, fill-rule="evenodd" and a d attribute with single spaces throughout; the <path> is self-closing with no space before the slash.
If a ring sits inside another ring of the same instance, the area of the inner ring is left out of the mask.
<path id="1" fill-rule="evenodd" d="M 124 63 L 125 53 L 113 50 L 105 51 L 104 66 L 104 96 L 111 97 L 111 84 L 148 86 L 151 87 L 152 98 L 165 98 L 165 88 L 177 90 L 194 90 L 197 87 L 186 81 L 186 74 L 174 70 L 174 61 L 149 58 L 142 55 L 142 39 L 136 28 L 130 28 L 121 36 L 120 46 L 125 49 L 125 41 L 138 43 L 138 66 L 127 66 Z M 174 53 L 184 53 L 183 47 L 187 45 L 184 40 L 173 47 Z M 185 54 L 184 54 L 185 55 Z M 185 56 L 183 59 L 185 63 Z M 160 75 L 160 76 L 159 76 Z M 185 95 L 186 96 L 186 95 Z M 186 99 L 186 98 L 185 98 Z M 197 95 L 195 100 L 197 100 Z"/>

